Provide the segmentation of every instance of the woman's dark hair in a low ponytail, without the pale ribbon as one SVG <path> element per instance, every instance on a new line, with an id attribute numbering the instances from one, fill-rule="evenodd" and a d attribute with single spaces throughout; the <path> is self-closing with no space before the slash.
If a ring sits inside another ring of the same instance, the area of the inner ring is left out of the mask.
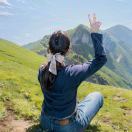
<path id="1" fill-rule="evenodd" d="M 47 49 L 48 53 L 52 54 L 61 53 L 61 55 L 66 55 L 69 47 L 70 47 L 70 39 L 68 36 L 61 31 L 54 32 L 49 39 L 49 47 Z M 49 69 L 50 62 L 43 68 L 42 73 L 42 86 L 46 88 L 46 90 L 50 90 L 54 84 L 56 75 L 52 74 Z M 56 62 L 56 68 L 63 67 L 61 63 Z"/>

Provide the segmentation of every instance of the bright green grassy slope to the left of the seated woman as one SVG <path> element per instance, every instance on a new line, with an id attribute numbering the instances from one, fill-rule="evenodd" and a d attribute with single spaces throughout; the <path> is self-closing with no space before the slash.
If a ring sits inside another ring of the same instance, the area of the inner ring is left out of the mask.
<path id="1" fill-rule="evenodd" d="M 8 104 L 16 113 L 34 117 L 39 113 L 41 95 L 37 70 L 46 58 L 6 40 L 0 40 L 0 118 Z M 32 94 L 32 98 L 30 98 Z M 37 99 L 36 99 L 37 97 Z M 31 112 L 31 109 L 33 110 Z"/>

